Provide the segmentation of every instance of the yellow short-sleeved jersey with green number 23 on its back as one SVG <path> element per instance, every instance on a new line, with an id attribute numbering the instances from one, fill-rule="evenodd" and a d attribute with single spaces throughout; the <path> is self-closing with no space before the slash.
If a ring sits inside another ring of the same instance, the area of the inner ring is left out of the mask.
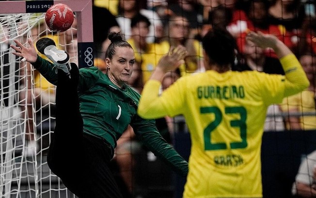
<path id="1" fill-rule="evenodd" d="M 184 198 L 262 197 L 263 125 L 269 104 L 282 102 L 283 79 L 256 71 L 208 70 L 180 78 L 162 93 L 164 110 L 184 115 L 190 131 Z"/>

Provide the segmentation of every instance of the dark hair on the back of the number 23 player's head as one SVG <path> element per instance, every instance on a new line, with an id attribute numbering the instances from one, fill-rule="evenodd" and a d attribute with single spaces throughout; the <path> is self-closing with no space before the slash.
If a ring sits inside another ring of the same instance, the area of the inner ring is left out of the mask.
<path id="1" fill-rule="evenodd" d="M 210 61 L 219 66 L 234 65 L 237 55 L 235 38 L 221 28 L 213 28 L 202 39 L 203 49 Z"/>

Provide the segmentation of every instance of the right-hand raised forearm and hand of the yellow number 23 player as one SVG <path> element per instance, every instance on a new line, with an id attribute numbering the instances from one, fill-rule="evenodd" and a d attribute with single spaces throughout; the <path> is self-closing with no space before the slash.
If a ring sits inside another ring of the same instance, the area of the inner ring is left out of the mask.
<path id="1" fill-rule="evenodd" d="M 275 51 L 285 73 L 284 97 L 299 93 L 309 86 L 309 81 L 300 62 L 293 52 L 276 36 L 250 32 L 246 39 L 262 49 L 272 48 Z"/>

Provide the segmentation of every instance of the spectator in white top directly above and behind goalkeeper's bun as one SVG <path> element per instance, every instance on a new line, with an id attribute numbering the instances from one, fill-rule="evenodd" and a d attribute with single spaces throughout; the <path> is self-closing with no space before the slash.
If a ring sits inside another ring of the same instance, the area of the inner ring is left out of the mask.
<path id="1" fill-rule="evenodd" d="M 131 18 L 138 14 L 146 16 L 151 25 L 149 26 L 149 34 L 146 40 L 150 43 L 155 41 L 155 36 L 160 37 L 163 29 L 162 22 L 158 14 L 153 10 L 143 9 L 141 7 L 141 1 L 136 0 L 120 0 L 118 4 L 118 15 L 116 20 L 122 29 L 122 33 L 125 35 L 125 39 L 128 40 L 131 36 L 130 23 Z"/>

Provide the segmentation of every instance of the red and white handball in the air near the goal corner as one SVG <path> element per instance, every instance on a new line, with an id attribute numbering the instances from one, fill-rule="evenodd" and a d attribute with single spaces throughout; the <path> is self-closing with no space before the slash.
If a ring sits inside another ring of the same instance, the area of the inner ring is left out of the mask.
<path id="1" fill-rule="evenodd" d="M 74 17 L 74 13 L 68 5 L 58 3 L 48 8 L 45 22 L 51 31 L 64 32 L 71 27 Z"/>

